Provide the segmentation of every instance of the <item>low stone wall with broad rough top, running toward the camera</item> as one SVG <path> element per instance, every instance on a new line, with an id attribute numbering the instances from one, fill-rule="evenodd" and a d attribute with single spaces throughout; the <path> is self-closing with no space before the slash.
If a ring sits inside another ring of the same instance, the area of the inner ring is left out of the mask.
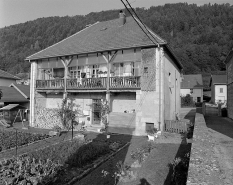
<path id="1" fill-rule="evenodd" d="M 206 126 L 204 116 L 196 113 L 187 185 L 223 184 L 215 145 L 213 134 Z"/>

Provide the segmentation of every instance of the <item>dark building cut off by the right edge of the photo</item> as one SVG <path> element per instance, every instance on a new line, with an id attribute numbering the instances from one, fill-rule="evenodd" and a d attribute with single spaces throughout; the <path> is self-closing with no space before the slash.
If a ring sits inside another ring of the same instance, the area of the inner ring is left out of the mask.
<path id="1" fill-rule="evenodd" d="M 229 52 L 225 64 L 227 70 L 227 112 L 228 117 L 233 119 L 233 49 Z"/>

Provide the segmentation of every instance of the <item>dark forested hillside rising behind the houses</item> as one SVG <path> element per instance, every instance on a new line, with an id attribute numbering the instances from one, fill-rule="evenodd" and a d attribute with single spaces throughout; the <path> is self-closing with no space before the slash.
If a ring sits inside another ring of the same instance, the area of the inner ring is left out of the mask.
<path id="1" fill-rule="evenodd" d="M 25 57 L 44 49 L 97 21 L 118 18 L 119 10 L 86 16 L 39 18 L 0 29 L 0 69 L 28 72 Z M 127 10 L 126 14 L 129 15 Z M 187 3 L 136 8 L 143 22 L 166 39 L 184 65 L 185 74 L 224 70 L 233 46 L 233 6 Z M 78 14 L 78 12 L 77 12 Z"/>

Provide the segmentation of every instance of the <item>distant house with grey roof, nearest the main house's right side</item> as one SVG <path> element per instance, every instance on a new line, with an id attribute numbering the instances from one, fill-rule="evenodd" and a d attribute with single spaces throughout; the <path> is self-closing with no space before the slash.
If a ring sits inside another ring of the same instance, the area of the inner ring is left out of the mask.
<path id="1" fill-rule="evenodd" d="M 190 94 L 194 102 L 203 102 L 203 80 L 201 74 L 183 75 L 180 87 L 181 96 Z"/>

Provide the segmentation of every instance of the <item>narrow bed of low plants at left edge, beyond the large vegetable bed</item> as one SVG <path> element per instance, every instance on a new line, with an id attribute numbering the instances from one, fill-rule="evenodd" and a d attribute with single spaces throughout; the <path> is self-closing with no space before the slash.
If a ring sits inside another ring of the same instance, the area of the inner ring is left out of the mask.
<path id="1" fill-rule="evenodd" d="M 17 140 L 17 146 L 22 146 L 22 145 L 32 143 L 34 141 L 42 140 L 48 137 L 49 136 L 46 134 L 32 134 L 32 133 L 26 133 L 26 132 L 17 132 L 17 139 L 16 139 L 15 131 L 0 130 L 0 141 L 1 141 L 0 152 L 3 150 L 16 147 L 16 140 Z"/>

